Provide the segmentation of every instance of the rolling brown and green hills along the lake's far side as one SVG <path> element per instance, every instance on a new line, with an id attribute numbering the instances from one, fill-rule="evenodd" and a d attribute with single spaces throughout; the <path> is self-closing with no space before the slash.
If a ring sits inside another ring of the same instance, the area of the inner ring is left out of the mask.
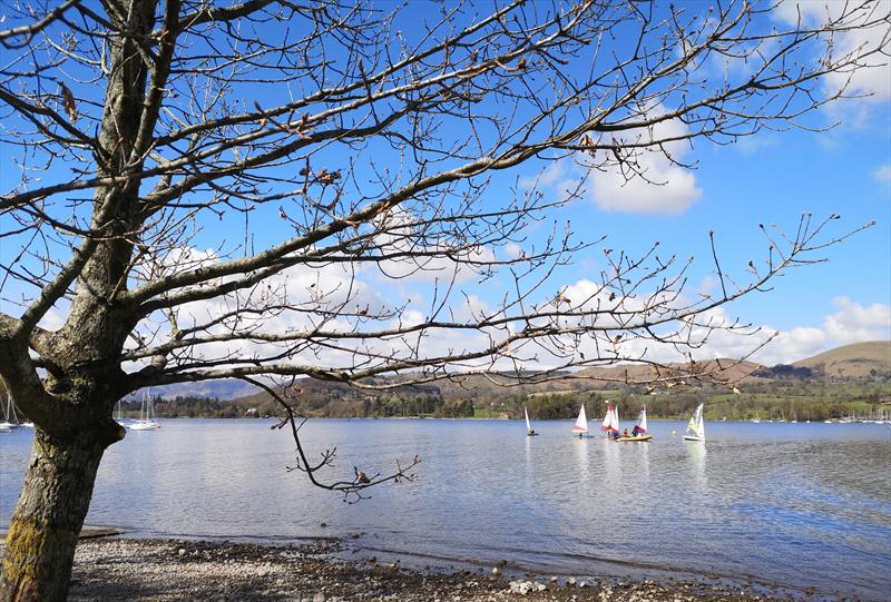
<path id="1" fill-rule="evenodd" d="M 814 378 L 820 381 L 829 378 L 833 382 L 881 378 L 887 382 L 891 379 L 891 342 L 845 345 L 791 365 L 768 367 L 754 362 L 712 359 L 701 363 L 698 367 L 704 372 L 715 372 L 713 376 L 718 381 L 718 389 L 723 388 L 719 382 L 726 382 L 730 386 L 740 383 L 741 387 L 790 381 L 806 382 Z M 683 374 L 687 368 L 686 364 L 669 365 L 660 371 L 660 375 L 667 376 L 673 369 Z M 311 415 L 352 416 L 369 413 L 391 416 L 433 413 L 463 415 L 468 411 L 469 403 L 479 408 L 505 404 L 511 406 L 530 396 L 539 397 L 548 394 L 590 395 L 609 389 L 644 393 L 648 389 L 634 386 L 634 383 L 650 379 L 655 373 L 648 365 L 619 365 L 591 367 L 551 376 L 554 378 L 540 383 L 509 386 L 516 381 L 508 374 L 464 374 L 447 381 L 413 386 L 409 383 L 411 376 L 403 374 L 380 376 L 369 381 L 369 383 L 390 385 L 405 383 L 402 386 L 376 392 L 358 389 L 343 383 L 306 378 L 298 382 L 302 391 L 295 402 L 302 412 Z M 626 386 L 626 383 L 629 386 Z M 697 386 L 693 381 L 688 384 Z M 667 391 L 667 387 L 665 388 Z M 677 394 L 682 393 L 682 389 L 688 392 L 689 387 L 679 386 L 672 392 Z M 223 401 L 233 401 L 241 411 L 255 407 L 262 413 L 277 412 L 277 406 L 268 394 L 252 389 L 249 385 L 238 381 L 184 383 L 165 387 L 163 391 L 158 389 L 157 393 L 168 398 L 176 395 L 218 397 Z"/>

